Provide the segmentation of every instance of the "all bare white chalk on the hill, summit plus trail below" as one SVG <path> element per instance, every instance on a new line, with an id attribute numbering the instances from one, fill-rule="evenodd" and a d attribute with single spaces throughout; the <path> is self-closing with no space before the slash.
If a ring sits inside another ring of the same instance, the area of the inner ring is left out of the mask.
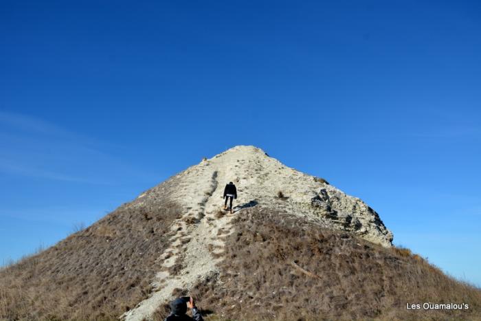
<path id="1" fill-rule="evenodd" d="M 234 214 L 225 214 L 221 211 L 223 190 L 230 181 L 236 184 L 238 199 L 234 201 Z M 232 219 L 254 206 L 392 246 L 392 233 L 366 203 L 324 179 L 285 166 L 254 146 L 236 146 L 202 159 L 200 164 L 142 193 L 126 207 L 155 206 L 160 194 L 167 195 L 183 212 L 171 227 L 175 236 L 170 247 L 159 256 L 163 268 L 153 280 L 153 294 L 124 313 L 122 318 L 126 320 L 149 320 L 159 304 L 172 298 L 174 289 L 188 289 L 219 272 L 216 263 L 224 247 L 219 236 L 232 233 Z"/>

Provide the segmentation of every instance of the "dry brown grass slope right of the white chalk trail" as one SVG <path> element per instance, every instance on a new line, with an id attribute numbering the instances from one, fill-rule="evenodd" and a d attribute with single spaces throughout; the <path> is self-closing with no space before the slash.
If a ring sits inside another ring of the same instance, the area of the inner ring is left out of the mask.
<path id="1" fill-rule="evenodd" d="M 480 320 L 481 291 L 407 249 L 319 230 L 286 214 L 248 210 L 225 239 L 220 274 L 181 296 L 206 320 Z M 406 303 L 467 303 L 466 311 L 408 311 Z M 159 307 L 155 320 L 168 313 Z"/>

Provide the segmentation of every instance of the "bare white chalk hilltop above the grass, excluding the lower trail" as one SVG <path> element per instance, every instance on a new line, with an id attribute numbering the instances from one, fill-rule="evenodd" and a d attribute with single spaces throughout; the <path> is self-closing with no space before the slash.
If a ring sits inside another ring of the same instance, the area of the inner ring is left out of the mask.
<path id="1" fill-rule="evenodd" d="M 309 219 L 323 228 L 352 232 L 385 247 L 392 246 L 392 232 L 379 214 L 357 197 L 346 195 L 320 177 L 304 174 L 269 157 L 255 146 L 236 146 L 172 177 L 182 188 L 172 194 L 186 212 L 201 221 L 219 209 L 225 184 L 239 190 L 236 210 L 259 205 Z M 131 206 L 145 206 L 155 199 L 162 184 L 139 196 Z"/>

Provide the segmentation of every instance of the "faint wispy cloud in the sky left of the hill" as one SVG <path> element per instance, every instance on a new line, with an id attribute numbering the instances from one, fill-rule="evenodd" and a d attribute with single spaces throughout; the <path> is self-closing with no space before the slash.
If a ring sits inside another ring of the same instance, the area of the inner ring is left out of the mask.
<path id="1" fill-rule="evenodd" d="M 113 157 L 106 151 L 109 148 L 118 146 L 30 115 L 0 111 L 2 173 L 87 184 L 148 176 Z"/>

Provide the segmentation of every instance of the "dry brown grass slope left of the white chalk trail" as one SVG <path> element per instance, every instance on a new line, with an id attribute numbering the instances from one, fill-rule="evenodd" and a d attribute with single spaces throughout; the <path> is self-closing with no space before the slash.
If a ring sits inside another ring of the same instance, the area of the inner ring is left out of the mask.
<path id="1" fill-rule="evenodd" d="M 169 184 L 169 183 L 167 183 Z M 115 320 L 150 293 L 181 210 L 124 205 L 89 228 L 0 270 L 0 320 Z M 157 206 L 158 205 L 158 206 Z"/>

